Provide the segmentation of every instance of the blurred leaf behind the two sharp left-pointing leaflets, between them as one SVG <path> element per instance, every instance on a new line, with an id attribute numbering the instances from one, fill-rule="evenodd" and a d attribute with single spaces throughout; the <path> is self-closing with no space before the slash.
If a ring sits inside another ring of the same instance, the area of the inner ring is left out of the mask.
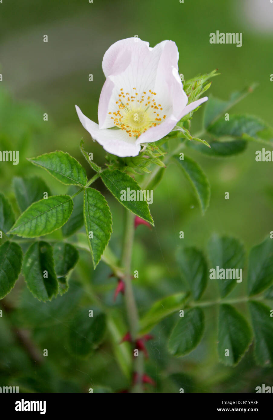
<path id="1" fill-rule="evenodd" d="M 51 192 L 42 178 L 34 176 L 32 178 L 15 177 L 13 178 L 13 188 L 20 210 L 23 212 L 32 203 L 42 199 L 44 192 L 50 196 Z"/>

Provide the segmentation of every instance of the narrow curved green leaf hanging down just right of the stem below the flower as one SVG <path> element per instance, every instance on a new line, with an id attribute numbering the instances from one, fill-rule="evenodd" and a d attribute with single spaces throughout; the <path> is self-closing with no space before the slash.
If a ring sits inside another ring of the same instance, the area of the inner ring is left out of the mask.
<path id="1" fill-rule="evenodd" d="M 210 202 L 210 184 L 207 180 L 205 173 L 202 169 L 188 156 L 184 156 L 183 160 L 176 157 L 176 161 L 180 163 L 186 178 L 192 184 L 194 191 L 197 195 L 202 214 L 205 213 Z"/>

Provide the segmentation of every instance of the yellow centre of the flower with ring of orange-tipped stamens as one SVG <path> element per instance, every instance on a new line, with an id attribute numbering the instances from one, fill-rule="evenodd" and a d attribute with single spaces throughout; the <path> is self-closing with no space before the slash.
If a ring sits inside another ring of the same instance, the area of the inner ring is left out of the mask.
<path id="1" fill-rule="evenodd" d="M 133 88 L 136 91 L 136 88 Z M 129 92 L 123 92 L 118 95 L 119 99 L 115 102 L 118 110 L 109 112 L 114 115 L 110 118 L 114 120 L 115 126 L 121 130 L 126 130 L 130 137 L 138 137 L 151 127 L 160 124 L 166 115 L 163 115 L 161 104 L 155 101 L 155 92 L 142 92 L 140 96 L 138 92 L 134 95 Z"/>

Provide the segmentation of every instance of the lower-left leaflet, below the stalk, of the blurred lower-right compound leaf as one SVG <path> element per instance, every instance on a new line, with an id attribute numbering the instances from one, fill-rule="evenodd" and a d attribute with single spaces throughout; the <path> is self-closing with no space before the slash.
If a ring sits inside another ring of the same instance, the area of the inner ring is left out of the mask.
<path id="1" fill-rule="evenodd" d="M 168 350 L 174 356 L 185 356 L 199 344 L 204 334 L 205 317 L 200 308 L 189 309 L 179 318 L 171 332 Z"/>

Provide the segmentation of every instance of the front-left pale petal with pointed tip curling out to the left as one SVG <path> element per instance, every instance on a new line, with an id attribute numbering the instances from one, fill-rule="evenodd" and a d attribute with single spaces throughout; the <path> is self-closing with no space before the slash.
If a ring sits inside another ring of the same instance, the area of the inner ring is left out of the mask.
<path id="1" fill-rule="evenodd" d="M 84 128 L 93 139 L 102 145 L 106 152 L 120 157 L 139 154 L 140 145 L 136 144 L 136 139 L 129 137 L 125 130 L 100 129 L 98 124 L 89 120 L 77 105 L 76 111 Z"/>

